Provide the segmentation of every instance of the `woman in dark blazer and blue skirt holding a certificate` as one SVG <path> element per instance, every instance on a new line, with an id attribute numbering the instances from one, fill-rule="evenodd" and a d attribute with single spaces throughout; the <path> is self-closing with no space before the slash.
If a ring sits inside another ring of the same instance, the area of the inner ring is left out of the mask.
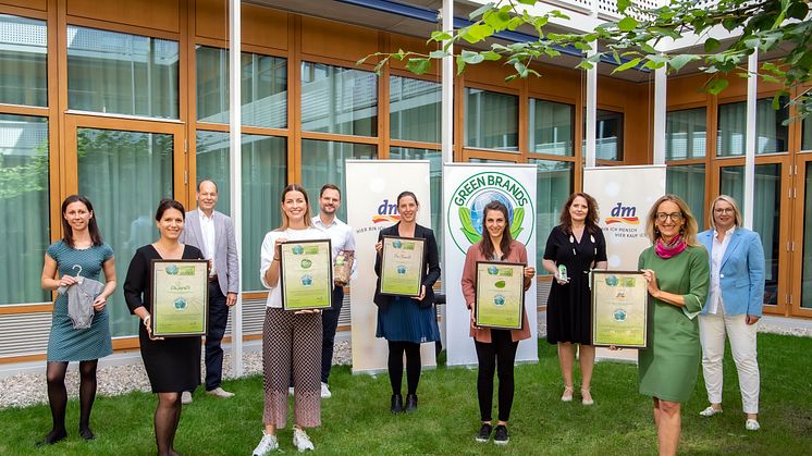
<path id="1" fill-rule="evenodd" d="M 389 375 L 392 384 L 393 414 L 417 410 L 417 384 L 420 381 L 420 344 L 440 340 L 440 330 L 434 312 L 434 282 L 440 279 L 440 259 L 431 229 L 417 224 L 419 204 L 411 192 L 397 196 L 397 211 L 401 221 L 378 234 L 376 244 L 376 286 L 374 303 L 378 306 L 378 329 L 376 336 L 389 342 Z M 419 237 L 426 239 L 423 250 L 423 280 L 420 296 L 415 298 L 387 296 L 381 289 L 381 252 L 383 236 Z M 403 355 L 406 354 L 406 383 L 408 392 L 404 406 L 401 386 L 403 383 Z"/>

